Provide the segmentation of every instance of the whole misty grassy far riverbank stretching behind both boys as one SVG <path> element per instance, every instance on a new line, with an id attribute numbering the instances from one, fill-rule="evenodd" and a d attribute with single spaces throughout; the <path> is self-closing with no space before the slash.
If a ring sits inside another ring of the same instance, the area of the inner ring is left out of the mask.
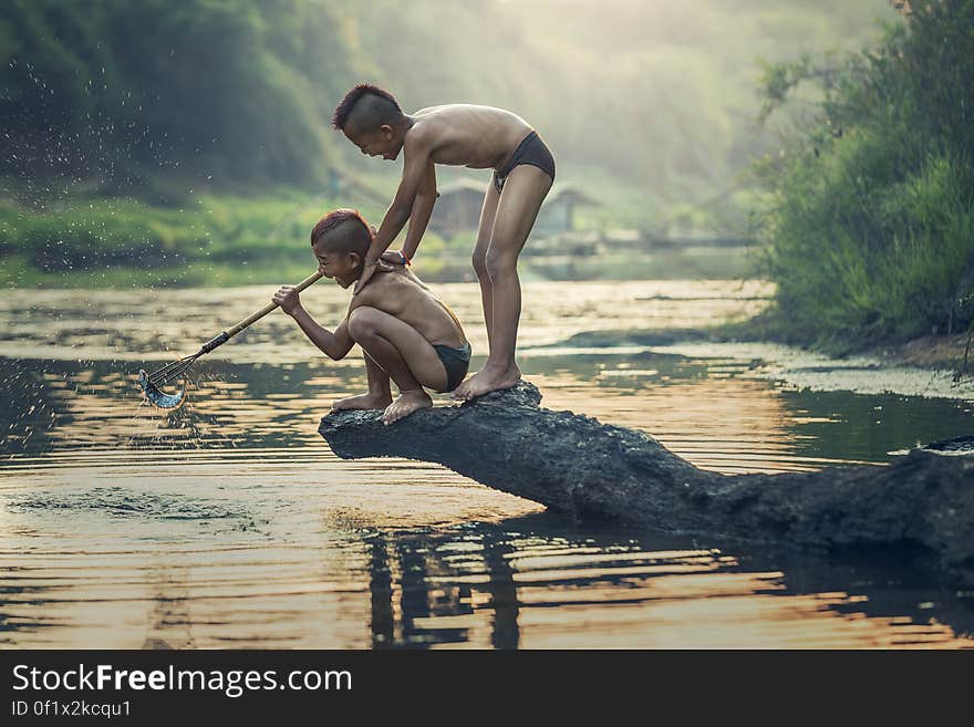
<path id="1" fill-rule="evenodd" d="M 392 199 L 395 184 L 388 174 L 367 178 L 376 198 L 387 194 Z M 355 207 L 377 225 L 385 211 L 361 197 L 333 198 L 288 187 L 227 194 L 173 181 L 149 200 L 63 189 L 41 197 L 17 194 L 13 183 L 7 185 L 22 201 L 0 201 L 4 288 L 219 287 L 300 280 L 313 268 L 308 235 L 322 214 Z M 612 241 L 620 226 L 640 225 L 640 193 L 607 179 L 597 198 L 597 206 L 576 216 L 580 241 L 566 246 L 555 239 L 529 240 L 521 256 L 524 280 L 727 279 L 748 277 L 754 267 L 753 256 L 742 248 Z M 414 270 L 428 282 L 473 281 L 474 237 L 473 230 L 448 239 L 427 231 Z"/>

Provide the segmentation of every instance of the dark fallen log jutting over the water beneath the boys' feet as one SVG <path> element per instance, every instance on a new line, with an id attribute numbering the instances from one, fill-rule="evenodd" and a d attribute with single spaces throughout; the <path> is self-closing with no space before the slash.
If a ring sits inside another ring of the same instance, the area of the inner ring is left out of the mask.
<path id="1" fill-rule="evenodd" d="M 889 466 L 721 475 L 646 434 L 540 402 L 522 382 L 388 427 L 379 412 L 333 412 L 319 432 L 342 458 L 438 463 L 580 520 L 828 549 L 921 546 L 974 582 L 974 457 L 915 449 Z"/>

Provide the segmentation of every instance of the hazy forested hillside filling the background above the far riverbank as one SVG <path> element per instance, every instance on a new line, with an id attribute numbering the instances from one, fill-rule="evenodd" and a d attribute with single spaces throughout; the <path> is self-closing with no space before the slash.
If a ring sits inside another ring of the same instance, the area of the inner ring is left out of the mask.
<path id="1" fill-rule="evenodd" d="M 755 56 L 859 43 L 892 13 L 885 0 L 0 4 L 0 191 L 28 236 L 8 249 L 19 271 L 75 273 L 131 264 L 136 243 L 173 264 L 262 255 L 267 241 L 247 247 L 247 230 L 200 217 L 217 196 L 273 221 L 279 189 L 310 197 L 338 170 L 391 199 L 400 165 L 363 158 L 329 124 L 366 80 L 407 111 L 474 102 L 522 115 L 555 150 L 559 183 L 599 198 L 592 227 L 736 226 L 736 195 L 721 193 L 773 141 L 754 124 Z M 472 174 L 486 181 L 469 169 L 439 179 Z"/>

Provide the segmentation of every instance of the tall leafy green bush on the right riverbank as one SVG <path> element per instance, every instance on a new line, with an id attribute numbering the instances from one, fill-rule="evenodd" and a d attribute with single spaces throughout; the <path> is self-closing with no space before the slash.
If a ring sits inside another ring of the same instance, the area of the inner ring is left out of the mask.
<path id="1" fill-rule="evenodd" d="M 769 115 L 802 83 L 821 92 L 815 124 L 759 166 L 787 337 L 849 347 L 974 319 L 972 28 L 974 1 L 942 0 L 827 71 L 769 66 Z"/>

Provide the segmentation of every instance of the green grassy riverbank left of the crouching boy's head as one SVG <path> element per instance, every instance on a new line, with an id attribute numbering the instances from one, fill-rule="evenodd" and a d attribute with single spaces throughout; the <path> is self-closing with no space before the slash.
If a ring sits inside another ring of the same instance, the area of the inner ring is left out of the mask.
<path id="1" fill-rule="evenodd" d="M 277 189 L 262 197 L 59 197 L 0 205 L 8 287 L 234 284 L 247 268 L 307 269 L 308 231 L 335 200 Z"/>

